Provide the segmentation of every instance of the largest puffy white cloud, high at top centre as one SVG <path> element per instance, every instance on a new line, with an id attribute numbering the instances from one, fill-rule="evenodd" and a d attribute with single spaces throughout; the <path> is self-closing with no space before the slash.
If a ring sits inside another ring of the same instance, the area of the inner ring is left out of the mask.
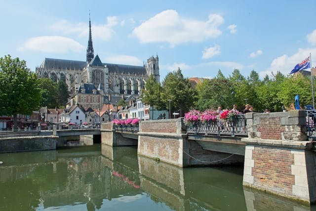
<path id="1" fill-rule="evenodd" d="M 168 42 L 171 46 L 183 42 L 200 42 L 222 34 L 221 15 L 210 14 L 207 21 L 180 17 L 175 10 L 164 10 L 136 27 L 132 35 L 141 43 Z"/>

